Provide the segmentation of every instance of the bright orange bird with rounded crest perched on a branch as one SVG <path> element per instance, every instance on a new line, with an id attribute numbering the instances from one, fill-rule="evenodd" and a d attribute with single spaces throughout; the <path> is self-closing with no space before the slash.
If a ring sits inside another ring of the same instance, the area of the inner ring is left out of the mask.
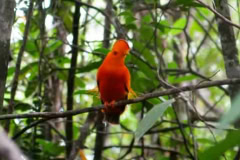
<path id="1" fill-rule="evenodd" d="M 125 40 L 117 40 L 97 72 L 98 89 L 104 104 L 102 112 L 105 114 L 106 121 L 112 124 L 119 123 L 120 115 L 126 107 L 126 105 L 115 107 L 114 103 L 127 99 L 129 91 L 132 91 L 130 73 L 124 64 L 129 50 Z"/>

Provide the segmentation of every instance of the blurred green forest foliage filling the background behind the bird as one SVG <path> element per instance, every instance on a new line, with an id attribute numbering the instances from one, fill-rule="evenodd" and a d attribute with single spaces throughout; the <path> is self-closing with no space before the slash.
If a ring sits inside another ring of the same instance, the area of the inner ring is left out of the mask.
<path id="1" fill-rule="evenodd" d="M 9 61 L 2 114 L 9 110 L 29 1 L 19 0 L 16 5 L 11 39 L 13 59 Z M 131 72 L 131 86 L 138 96 L 226 78 L 215 15 L 197 1 L 113 0 L 112 5 L 103 0 L 81 2 L 74 109 L 101 104 L 99 95 L 92 90 L 97 86 L 97 68 L 111 49 L 111 45 L 105 48 L 106 42 L 113 44 L 118 38 L 125 38 L 131 46 L 125 62 Z M 107 4 L 110 11 L 105 9 Z M 239 3 L 229 0 L 228 4 L 232 21 L 238 23 Z M 74 8 L 74 1 L 69 0 L 34 1 L 14 98 L 15 114 L 66 111 Z M 238 40 L 239 33 L 237 30 L 235 33 Z M 228 90 L 225 86 L 224 89 Z M 202 90 L 192 88 L 181 95 L 156 97 L 129 105 L 121 116 L 121 125 L 108 125 L 104 130 L 107 137 L 102 157 L 186 159 L 189 152 L 193 155 L 196 152 L 195 156 L 200 159 L 221 159 L 223 155 L 226 159 L 234 159 L 237 152 L 234 147 L 240 145 L 240 136 L 232 122 L 239 118 L 240 98 L 236 98 L 231 108 L 224 89 L 219 86 Z M 219 123 L 218 119 L 225 112 Z M 83 145 L 89 159 L 95 153 L 96 117 L 91 119 L 88 113 L 73 117 L 72 141 L 84 135 L 84 131 L 89 133 Z M 29 127 L 39 120 L 11 120 L 9 136 L 21 133 L 15 141 L 30 159 L 65 159 L 66 119 L 53 119 Z M 6 121 L 1 121 L 1 125 L 5 126 Z M 26 127 L 29 129 L 24 130 Z M 83 130 L 85 128 L 88 129 Z M 141 140 L 131 143 L 134 131 Z"/>

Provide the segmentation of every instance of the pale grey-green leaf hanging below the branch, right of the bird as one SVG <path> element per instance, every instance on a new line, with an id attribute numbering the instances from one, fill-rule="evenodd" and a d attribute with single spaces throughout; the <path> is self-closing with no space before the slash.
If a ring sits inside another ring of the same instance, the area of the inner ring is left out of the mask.
<path id="1" fill-rule="evenodd" d="M 135 137 L 137 140 L 139 140 L 154 125 L 158 118 L 163 115 L 165 110 L 174 101 L 174 99 L 170 99 L 161 104 L 157 104 L 147 113 L 147 115 L 140 121 L 135 132 Z"/>

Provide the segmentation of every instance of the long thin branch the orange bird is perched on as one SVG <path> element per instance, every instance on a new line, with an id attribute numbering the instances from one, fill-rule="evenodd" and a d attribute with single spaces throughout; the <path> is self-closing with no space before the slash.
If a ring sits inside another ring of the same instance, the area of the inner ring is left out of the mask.
<path id="1" fill-rule="evenodd" d="M 129 99 L 124 101 L 119 101 L 115 104 L 115 106 L 121 106 L 126 104 L 133 104 L 142 102 L 147 99 L 156 98 L 160 96 L 166 96 L 166 95 L 172 95 L 180 92 L 185 91 L 193 91 L 196 89 L 202 89 L 202 88 L 209 88 L 209 87 L 215 87 L 219 85 L 228 85 L 228 84 L 240 84 L 240 78 L 234 78 L 234 79 L 225 79 L 225 80 L 216 80 L 216 81 L 210 81 L 210 82 L 202 82 L 201 84 L 197 85 L 189 85 L 179 88 L 173 88 L 168 89 L 164 91 L 155 91 L 152 93 L 147 93 L 144 95 L 141 95 L 138 98 L 135 99 Z M 67 116 L 75 116 L 82 113 L 87 112 L 94 112 L 102 109 L 104 105 L 98 105 L 90 108 L 83 108 L 83 109 L 76 109 L 66 112 L 33 112 L 33 113 L 24 113 L 24 114 L 5 114 L 0 116 L 0 120 L 6 120 L 6 119 L 22 119 L 22 118 L 59 118 L 59 117 L 67 117 Z"/>

